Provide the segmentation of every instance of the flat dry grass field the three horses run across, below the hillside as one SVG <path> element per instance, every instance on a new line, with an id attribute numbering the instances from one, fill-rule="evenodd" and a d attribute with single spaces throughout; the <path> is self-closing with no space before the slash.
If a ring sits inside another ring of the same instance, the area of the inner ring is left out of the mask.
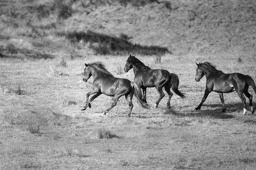
<path id="1" fill-rule="evenodd" d="M 204 94 L 205 78 L 195 81 L 195 62 L 209 61 L 225 73 L 250 74 L 256 80 L 255 55 L 170 55 L 152 68 L 168 69 L 180 78 L 186 99 L 167 97 L 153 109 L 158 94 L 148 89 L 150 109 L 133 99 L 131 118 L 124 97 L 107 115 L 111 97 L 100 96 L 80 111 L 92 80 L 82 81 L 84 62 L 102 61 L 115 76 L 127 56 L 84 59 L 1 59 L 0 169 L 254 169 L 256 118 L 243 115 L 236 92 L 209 95 L 202 110 L 193 111 Z M 63 64 L 65 63 L 65 64 Z M 252 89 L 250 89 L 252 93 Z M 255 95 L 254 95 L 255 96 Z M 255 98 L 253 99 L 255 106 Z"/>

